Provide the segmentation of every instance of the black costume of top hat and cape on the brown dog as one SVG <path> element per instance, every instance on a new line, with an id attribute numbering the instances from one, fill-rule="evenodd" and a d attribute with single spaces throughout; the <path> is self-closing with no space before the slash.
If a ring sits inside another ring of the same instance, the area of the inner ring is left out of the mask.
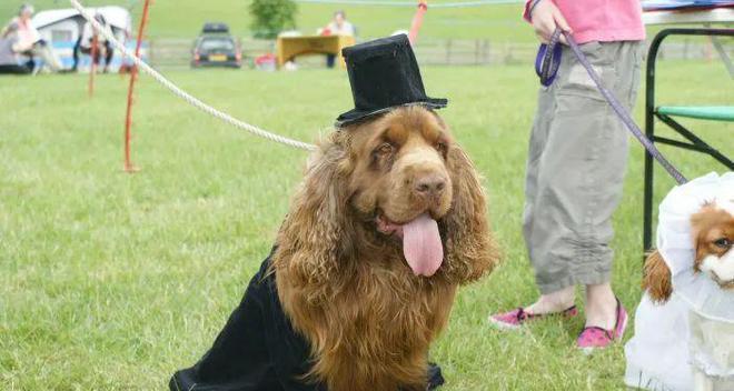
<path id="1" fill-rule="evenodd" d="M 339 116 L 339 127 L 399 106 L 438 109 L 447 103 L 426 97 L 405 34 L 347 48 L 344 56 L 355 109 Z M 172 391 L 326 391 L 325 384 L 304 380 L 311 367 L 310 349 L 282 311 L 270 257 L 250 280 L 209 352 L 196 365 L 173 374 Z M 427 368 L 427 375 L 428 390 L 444 383 L 435 364 Z"/>

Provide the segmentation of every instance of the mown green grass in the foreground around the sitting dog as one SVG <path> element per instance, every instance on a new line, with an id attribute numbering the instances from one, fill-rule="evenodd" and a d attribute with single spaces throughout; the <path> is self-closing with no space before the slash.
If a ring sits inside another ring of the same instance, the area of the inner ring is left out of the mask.
<path id="1" fill-rule="evenodd" d="M 302 140 L 316 140 L 350 108 L 338 71 L 171 78 L 237 118 Z M 658 78 L 663 102 L 732 104 L 721 64 L 666 62 Z M 537 294 L 520 235 L 537 90 L 529 67 L 426 68 L 424 79 L 430 94 L 450 98 L 442 114 L 485 177 L 506 253 L 495 273 L 460 290 L 433 348 L 445 390 L 622 388 L 623 348 L 577 352 L 581 319 L 515 333 L 485 322 Z M 123 173 L 126 80 L 99 77 L 93 99 L 85 82 L 0 78 L 2 390 L 163 389 L 210 347 L 239 302 L 307 158 L 217 122 L 142 78 L 133 143 L 142 170 Z M 684 122 L 734 152 L 731 124 Z M 722 170 L 711 159 L 665 151 L 690 177 Z M 642 156 L 633 143 L 614 220 L 614 287 L 631 310 L 641 295 Z M 662 196 L 673 182 L 659 170 L 658 179 Z"/>

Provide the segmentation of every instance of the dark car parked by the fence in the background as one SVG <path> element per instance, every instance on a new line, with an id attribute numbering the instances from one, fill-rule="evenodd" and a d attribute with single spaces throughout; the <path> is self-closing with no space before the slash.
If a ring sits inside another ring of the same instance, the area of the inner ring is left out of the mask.
<path id="1" fill-rule="evenodd" d="M 194 43 L 191 68 L 241 68 L 242 50 L 225 23 L 206 23 Z"/>

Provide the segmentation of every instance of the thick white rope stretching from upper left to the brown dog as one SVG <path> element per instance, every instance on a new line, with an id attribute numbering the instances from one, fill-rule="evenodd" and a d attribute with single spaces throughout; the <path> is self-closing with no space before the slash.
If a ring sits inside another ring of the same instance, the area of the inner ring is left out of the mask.
<path id="1" fill-rule="evenodd" d="M 83 8 L 83 6 L 81 6 L 81 4 L 79 3 L 79 1 L 77 1 L 77 0 L 69 0 L 69 2 L 71 2 L 71 6 L 72 6 L 73 8 L 76 8 L 77 11 L 79 11 L 79 13 L 80 13 L 85 19 L 87 19 L 88 22 L 90 22 L 90 23 L 95 27 L 95 30 L 97 30 L 99 33 L 101 33 L 102 36 L 105 36 L 105 38 L 107 38 L 107 40 L 110 41 L 110 42 L 112 43 L 112 46 L 115 46 L 115 48 L 116 48 L 117 50 L 119 50 L 120 52 L 122 52 L 127 58 L 131 59 L 132 62 L 135 62 L 135 64 L 136 64 L 138 68 L 142 69 L 143 71 L 146 71 L 146 72 L 147 72 L 148 74 L 150 74 L 153 79 L 156 79 L 156 81 L 158 81 L 158 82 L 161 83 L 163 87 L 166 87 L 166 88 L 169 89 L 171 92 L 173 92 L 173 94 L 176 94 L 177 97 L 179 97 L 179 98 L 184 99 L 185 101 L 189 102 L 190 104 L 192 104 L 192 106 L 196 107 L 197 109 L 199 109 L 199 110 L 201 110 L 201 111 L 204 111 L 204 112 L 206 112 L 206 113 L 208 113 L 208 114 L 210 114 L 210 116 L 212 116 L 212 117 L 216 117 L 216 118 L 218 118 L 218 119 L 220 119 L 220 120 L 222 120 L 222 121 L 225 121 L 225 122 L 227 122 L 227 123 L 229 123 L 229 124 L 231 124 L 231 126 L 234 126 L 234 127 L 236 127 L 236 128 L 247 130 L 248 132 L 250 132 L 250 133 L 252 133 L 252 134 L 255 134 L 255 136 L 259 136 L 259 137 L 261 137 L 261 138 L 264 138 L 264 139 L 268 139 L 268 140 L 270 140 L 270 141 L 279 142 L 279 143 L 281 143 L 281 144 L 286 144 L 286 146 L 294 147 L 294 148 L 300 148 L 300 149 L 305 149 L 305 150 L 309 150 L 309 151 L 316 149 L 316 146 L 314 146 L 314 144 L 309 144 L 309 143 L 306 143 L 306 142 L 302 142 L 302 141 L 298 141 L 298 140 L 289 139 L 289 138 L 287 138 L 287 137 L 282 137 L 282 136 L 279 136 L 279 134 L 275 134 L 275 133 L 271 133 L 271 132 L 269 132 L 269 131 L 267 131 L 267 130 L 264 130 L 264 129 L 260 129 L 260 128 L 258 128 L 258 127 L 251 126 L 251 124 L 249 124 L 249 123 L 247 123 L 247 122 L 242 122 L 242 121 L 240 121 L 240 120 L 238 120 L 238 119 L 236 119 L 236 118 L 229 116 L 228 113 L 226 113 L 226 112 L 221 112 L 221 111 L 219 111 L 219 110 L 217 110 L 217 109 L 215 109 L 215 108 L 212 108 L 212 107 L 206 104 L 205 102 L 200 101 L 199 99 L 192 97 L 191 94 L 189 94 L 188 92 L 181 90 L 181 89 L 178 88 L 176 84 L 173 84 L 171 81 L 169 81 L 168 79 L 166 79 L 166 77 L 163 77 L 162 74 L 158 73 L 158 71 L 156 71 L 155 69 L 152 69 L 152 68 L 151 68 L 149 64 L 147 64 L 145 61 L 142 61 L 141 59 L 139 59 L 138 57 L 136 57 L 133 53 L 131 53 L 131 52 L 130 52 L 130 51 L 129 51 L 129 50 L 128 50 L 122 43 L 120 43 L 120 41 L 118 41 L 118 40 L 117 40 L 117 39 L 110 33 L 110 31 L 108 31 L 107 29 L 105 29 L 105 28 L 103 28 L 103 27 L 102 27 L 102 26 L 101 26 L 101 24 L 100 24 L 100 23 L 99 23 L 99 22 L 98 22 L 92 16 L 91 16 L 91 14 L 89 14 L 89 11 L 87 11 L 87 10 Z"/>

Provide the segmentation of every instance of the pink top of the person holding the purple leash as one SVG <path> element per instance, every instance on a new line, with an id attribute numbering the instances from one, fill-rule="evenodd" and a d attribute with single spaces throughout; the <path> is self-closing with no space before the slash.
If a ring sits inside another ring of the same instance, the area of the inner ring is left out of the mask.
<path id="1" fill-rule="evenodd" d="M 578 43 L 599 41 L 642 41 L 645 26 L 638 0 L 540 0 L 553 1 L 574 30 Z M 525 3 L 523 18 L 530 21 Z"/>

